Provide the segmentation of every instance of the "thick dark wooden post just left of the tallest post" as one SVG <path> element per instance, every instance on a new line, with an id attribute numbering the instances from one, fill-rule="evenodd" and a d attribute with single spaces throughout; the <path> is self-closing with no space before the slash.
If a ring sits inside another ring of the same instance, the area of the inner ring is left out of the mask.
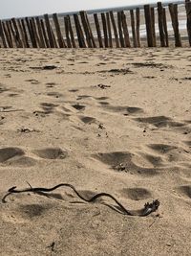
<path id="1" fill-rule="evenodd" d="M 153 39 L 153 27 L 152 27 L 152 17 L 151 17 L 151 8 L 150 5 L 144 6 L 144 16 L 145 16 L 145 23 L 146 23 L 146 33 L 147 33 L 147 43 L 148 47 L 154 46 L 154 39 Z"/>

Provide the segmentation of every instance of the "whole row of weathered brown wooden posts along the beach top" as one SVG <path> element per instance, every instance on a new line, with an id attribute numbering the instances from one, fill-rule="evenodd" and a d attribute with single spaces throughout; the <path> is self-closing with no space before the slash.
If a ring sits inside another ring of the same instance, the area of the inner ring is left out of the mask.
<path id="1" fill-rule="evenodd" d="M 159 41 L 161 47 L 169 46 L 169 36 L 166 21 L 167 9 L 162 7 L 161 2 L 157 5 L 158 23 L 159 23 Z M 178 5 L 169 4 L 172 27 L 175 37 L 175 46 L 181 46 L 181 37 L 179 30 Z M 191 2 L 185 1 L 185 12 L 187 17 L 188 42 L 191 46 Z M 93 35 L 93 29 L 87 15 L 87 12 L 74 14 L 74 27 L 70 15 L 64 16 L 65 35 L 60 27 L 58 15 L 53 13 L 53 24 L 48 14 L 44 18 L 32 17 L 11 20 L 0 20 L 0 47 L 4 48 L 107 48 L 107 47 L 140 47 L 140 10 L 130 10 L 132 40 L 127 25 L 127 17 L 124 11 L 117 12 L 117 22 L 114 12 L 94 13 L 96 25 L 96 35 Z M 80 19 L 79 19 L 80 17 Z M 144 17 L 146 24 L 146 35 L 148 47 L 157 46 L 157 36 L 155 28 L 155 9 L 150 5 L 144 6 Z M 102 23 L 102 24 L 100 24 Z M 53 28 L 54 25 L 54 28 Z M 102 25 L 102 26 L 100 26 Z M 102 30 L 101 30 L 102 27 Z M 114 39 L 113 39 L 114 35 Z"/>

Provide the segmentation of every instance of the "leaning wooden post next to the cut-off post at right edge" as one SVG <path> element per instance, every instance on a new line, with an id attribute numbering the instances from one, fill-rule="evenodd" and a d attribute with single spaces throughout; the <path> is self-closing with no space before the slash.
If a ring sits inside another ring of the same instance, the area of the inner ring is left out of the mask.
<path id="1" fill-rule="evenodd" d="M 172 27 L 175 34 L 175 46 L 181 46 L 181 38 L 180 38 L 180 31 L 179 31 L 179 19 L 178 19 L 178 5 L 177 4 L 169 4 L 169 11 L 172 19 Z"/>

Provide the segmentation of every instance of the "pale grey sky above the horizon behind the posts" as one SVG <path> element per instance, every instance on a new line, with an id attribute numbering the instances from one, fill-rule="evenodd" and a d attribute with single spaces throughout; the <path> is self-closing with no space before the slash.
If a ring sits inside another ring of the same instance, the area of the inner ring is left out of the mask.
<path id="1" fill-rule="evenodd" d="M 161 0 L 165 2 L 166 0 Z M 74 12 L 137 4 L 155 0 L 0 0 L 0 19 L 41 15 L 53 12 Z M 158 2 L 158 0 L 156 0 Z"/>

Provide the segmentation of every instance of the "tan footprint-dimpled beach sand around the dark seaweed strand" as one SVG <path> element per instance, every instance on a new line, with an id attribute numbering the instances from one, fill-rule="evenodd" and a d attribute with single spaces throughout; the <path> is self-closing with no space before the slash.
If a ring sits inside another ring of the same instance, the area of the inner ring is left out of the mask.
<path id="1" fill-rule="evenodd" d="M 160 201 L 131 217 L 69 188 L 11 195 L 0 202 L 0 255 L 190 255 L 190 49 L 0 56 L 1 198 L 67 182 L 128 209 Z"/>

